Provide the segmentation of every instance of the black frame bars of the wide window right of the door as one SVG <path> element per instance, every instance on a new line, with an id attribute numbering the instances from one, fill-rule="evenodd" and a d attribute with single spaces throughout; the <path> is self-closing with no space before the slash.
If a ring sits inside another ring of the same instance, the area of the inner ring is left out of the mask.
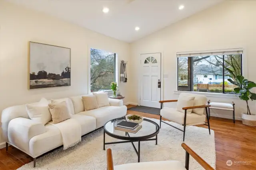
<path id="1" fill-rule="evenodd" d="M 243 54 L 239 54 L 239 55 L 240 55 L 240 62 L 241 62 L 241 75 L 243 75 L 243 63 L 242 63 Z M 224 83 L 225 82 L 225 74 L 224 74 L 224 72 L 225 72 L 225 68 L 224 68 L 225 61 L 224 60 L 225 60 L 225 55 L 222 55 L 222 77 L 223 77 L 222 82 L 223 82 L 223 85 L 222 85 L 222 93 L 219 93 L 219 94 L 228 94 L 229 95 L 230 93 L 225 93 L 225 83 Z M 194 81 L 192 81 L 194 79 L 194 77 L 193 77 L 193 72 L 194 72 L 193 69 L 194 68 L 193 68 L 193 62 L 192 61 L 193 61 L 193 57 L 188 57 L 188 67 L 190 67 L 190 69 L 188 69 L 188 73 L 190 73 L 190 75 L 188 74 L 188 83 L 189 83 L 189 79 L 190 79 L 190 86 L 189 85 L 188 86 L 179 86 L 179 77 L 178 77 L 178 75 L 179 75 L 179 73 L 178 73 L 178 71 L 179 71 L 179 57 L 177 57 L 177 90 L 178 91 L 192 91 L 192 89 L 194 88 L 193 87 L 194 86 Z M 190 78 L 189 78 L 189 76 L 190 76 Z M 179 89 L 179 87 L 180 87 L 180 89 Z M 188 88 L 190 90 L 182 90 L 182 89 L 186 89 L 186 88 Z M 196 91 L 196 92 L 199 92 L 199 91 Z M 206 93 L 209 93 L 209 92 L 206 92 Z"/>

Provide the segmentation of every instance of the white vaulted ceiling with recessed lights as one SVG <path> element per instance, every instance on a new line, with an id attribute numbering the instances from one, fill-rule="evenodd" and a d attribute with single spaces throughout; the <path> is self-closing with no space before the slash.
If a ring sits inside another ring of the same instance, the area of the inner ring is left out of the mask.
<path id="1" fill-rule="evenodd" d="M 6 0 L 122 40 L 136 41 L 222 0 Z M 184 9 L 179 10 L 179 6 Z M 107 14 L 102 12 L 109 8 Z M 135 27 L 140 27 L 135 31 Z"/>

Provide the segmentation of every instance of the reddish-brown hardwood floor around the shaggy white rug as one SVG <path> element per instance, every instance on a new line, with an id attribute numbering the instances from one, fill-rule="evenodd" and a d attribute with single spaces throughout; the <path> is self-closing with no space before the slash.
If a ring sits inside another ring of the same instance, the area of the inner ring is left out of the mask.
<path id="1" fill-rule="evenodd" d="M 131 108 L 134 105 L 127 107 Z M 127 114 L 160 119 L 159 115 L 130 110 Z M 207 128 L 205 125 L 200 127 Z M 210 127 L 215 134 L 216 170 L 256 170 L 256 127 L 242 125 L 241 121 L 234 124 L 230 119 L 217 117 L 211 117 Z M 5 148 L 0 149 L 0 170 L 15 170 L 32 160 L 30 156 L 13 146 L 8 147 L 8 152 Z M 233 165 L 227 166 L 227 160 L 232 160 Z M 249 161 L 251 164 L 234 164 L 234 161 Z"/>

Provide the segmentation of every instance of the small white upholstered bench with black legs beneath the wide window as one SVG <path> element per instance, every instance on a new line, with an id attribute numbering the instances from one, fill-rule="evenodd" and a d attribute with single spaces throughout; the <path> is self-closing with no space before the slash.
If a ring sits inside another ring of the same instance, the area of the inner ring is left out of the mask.
<path id="1" fill-rule="evenodd" d="M 209 113 L 209 119 L 210 119 L 210 109 L 219 109 L 219 110 L 225 110 L 225 111 L 233 111 L 233 123 L 235 123 L 235 103 L 219 103 L 219 102 L 210 102 L 208 100 L 208 105 L 211 105 L 209 107 L 208 113 Z"/>

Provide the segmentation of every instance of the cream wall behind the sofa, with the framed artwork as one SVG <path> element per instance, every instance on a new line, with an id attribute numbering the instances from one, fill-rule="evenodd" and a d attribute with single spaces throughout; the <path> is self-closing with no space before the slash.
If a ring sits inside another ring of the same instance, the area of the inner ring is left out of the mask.
<path id="1" fill-rule="evenodd" d="M 28 42 L 71 48 L 71 86 L 28 90 Z M 88 93 L 90 47 L 118 54 L 118 64 L 129 60 L 130 44 L 0 0 L 0 112 L 18 104 Z M 128 62 L 129 63 L 129 62 Z M 119 65 L 120 71 L 120 65 Z M 128 65 L 128 76 L 129 65 Z M 129 101 L 131 84 L 119 83 Z M 2 142 L 0 138 L 0 142 Z"/>

